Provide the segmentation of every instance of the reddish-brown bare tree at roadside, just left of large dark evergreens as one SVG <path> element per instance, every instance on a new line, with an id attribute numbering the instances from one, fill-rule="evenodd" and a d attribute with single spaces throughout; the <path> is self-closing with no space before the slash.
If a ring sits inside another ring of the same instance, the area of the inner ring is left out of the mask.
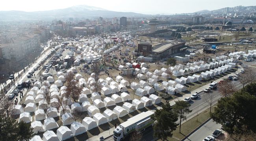
<path id="1" fill-rule="evenodd" d="M 236 92 L 236 90 L 236 86 L 232 84 L 232 81 L 229 81 L 227 79 L 220 81 L 218 84 L 218 91 L 224 97 L 230 96 L 231 94 Z"/>

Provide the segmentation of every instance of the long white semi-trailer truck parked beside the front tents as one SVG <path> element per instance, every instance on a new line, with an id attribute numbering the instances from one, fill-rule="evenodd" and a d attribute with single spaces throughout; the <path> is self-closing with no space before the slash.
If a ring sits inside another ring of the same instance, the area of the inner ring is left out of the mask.
<path id="1" fill-rule="evenodd" d="M 141 133 L 145 128 L 154 125 L 153 119 L 150 118 L 152 114 L 154 114 L 152 111 L 142 112 L 121 123 L 113 131 L 114 141 L 123 141 L 130 133 L 134 131 Z"/>

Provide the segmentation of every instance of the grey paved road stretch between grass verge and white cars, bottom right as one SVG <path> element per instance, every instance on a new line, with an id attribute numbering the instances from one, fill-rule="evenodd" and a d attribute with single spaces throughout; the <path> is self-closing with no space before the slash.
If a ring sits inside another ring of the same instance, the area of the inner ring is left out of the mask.
<path id="1" fill-rule="evenodd" d="M 202 141 L 205 137 L 211 136 L 215 129 L 222 130 L 221 124 L 217 124 L 211 119 L 201 128 L 199 128 L 195 133 L 189 136 L 185 141 Z M 223 139 L 223 136 L 224 134 L 221 134 L 217 139 Z"/>

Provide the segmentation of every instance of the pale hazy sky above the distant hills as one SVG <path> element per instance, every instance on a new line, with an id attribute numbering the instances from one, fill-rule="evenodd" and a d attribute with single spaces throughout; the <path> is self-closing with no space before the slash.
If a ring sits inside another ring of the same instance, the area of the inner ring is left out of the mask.
<path id="1" fill-rule="evenodd" d="M 0 11 L 45 11 L 74 5 L 89 5 L 111 11 L 142 14 L 193 13 L 238 5 L 256 5 L 255 0 L 1 0 Z"/>

